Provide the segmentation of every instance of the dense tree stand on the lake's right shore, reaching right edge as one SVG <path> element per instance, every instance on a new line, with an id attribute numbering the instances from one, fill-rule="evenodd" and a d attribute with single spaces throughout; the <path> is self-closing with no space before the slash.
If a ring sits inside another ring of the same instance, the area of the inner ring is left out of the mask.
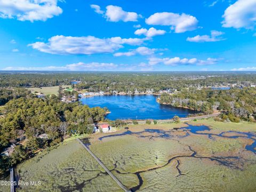
<path id="1" fill-rule="evenodd" d="M 256 117 L 256 89 L 212 90 L 183 89 L 179 94 L 162 94 L 160 103 L 175 107 L 186 107 L 211 114 L 213 110 L 222 111 L 222 119 L 239 122 L 239 119 L 253 121 Z"/>

